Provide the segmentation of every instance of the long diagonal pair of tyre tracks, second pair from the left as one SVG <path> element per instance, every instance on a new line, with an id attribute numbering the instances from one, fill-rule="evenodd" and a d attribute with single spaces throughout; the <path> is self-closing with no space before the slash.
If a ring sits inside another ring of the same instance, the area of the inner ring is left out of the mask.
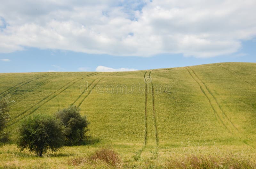
<path id="1" fill-rule="evenodd" d="M 85 77 L 90 77 L 90 76 L 94 76 L 94 75 L 97 75 L 97 74 L 99 74 L 99 73 L 94 72 L 94 73 L 91 73 L 91 74 L 89 74 L 89 75 L 86 75 Z M 46 96 L 44 99 L 40 100 L 40 101 L 37 102 L 35 105 L 33 105 L 32 107 L 28 108 L 27 110 L 25 110 L 25 111 L 22 112 L 21 114 L 16 115 L 13 119 L 17 119 L 18 117 L 20 117 L 21 115 L 27 113 L 29 110 L 31 110 L 31 109 L 33 109 L 33 108 L 35 107 L 30 113 L 24 115 L 24 116 L 21 117 L 20 119 L 18 119 L 18 120 L 16 120 L 16 121 L 12 122 L 11 124 L 9 124 L 9 125 L 7 125 L 7 126 L 11 126 L 11 125 L 17 123 L 18 121 L 24 119 L 24 118 L 27 117 L 28 115 L 34 113 L 34 112 L 35 112 L 37 109 L 39 109 L 41 106 L 43 106 L 44 104 L 46 104 L 47 102 L 49 102 L 50 100 L 52 100 L 53 98 L 55 98 L 56 96 L 58 96 L 60 93 L 62 93 L 62 92 L 64 92 L 65 90 L 67 90 L 70 86 L 74 85 L 74 84 L 75 84 L 76 82 L 78 82 L 79 80 L 84 79 L 85 77 L 82 77 L 82 78 L 79 78 L 79 77 L 78 77 L 78 78 L 76 78 L 75 80 L 71 80 L 71 81 L 68 82 L 66 85 L 62 86 L 60 89 L 58 89 L 57 91 L 55 91 L 53 94 L 50 94 L 50 95 Z M 46 99 L 47 99 L 47 100 L 46 100 Z M 39 105 L 39 104 L 40 104 L 41 102 L 43 102 L 44 100 L 46 100 L 46 101 L 45 101 L 43 104 Z M 39 106 L 37 106 L 37 105 L 39 105 Z M 36 106 L 37 106 L 37 107 L 36 107 Z"/>

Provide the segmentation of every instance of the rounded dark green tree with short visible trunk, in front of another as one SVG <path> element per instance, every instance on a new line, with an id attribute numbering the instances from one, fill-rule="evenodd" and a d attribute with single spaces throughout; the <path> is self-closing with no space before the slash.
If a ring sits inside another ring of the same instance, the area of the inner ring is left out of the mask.
<path id="1" fill-rule="evenodd" d="M 55 119 L 36 115 L 22 122 L 17 144 L 21 151 L 27 148 L 41 157 L 47 150 L 60 149 L 63 141 L 62 129 Z"/>

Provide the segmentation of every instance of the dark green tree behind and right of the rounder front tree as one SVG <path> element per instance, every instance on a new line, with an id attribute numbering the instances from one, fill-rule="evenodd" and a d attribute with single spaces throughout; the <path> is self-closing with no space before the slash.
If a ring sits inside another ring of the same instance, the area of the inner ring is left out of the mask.
<path id="1" fill-rule="evenodd" d="M 71 105 L 56 114 L 60 124 L 64 127 L 65 145 L 78 145 L 85 138 L 89 122 L 86 116 L 81 116 L 79 112 L 80 109 L 78 107 Z"/>

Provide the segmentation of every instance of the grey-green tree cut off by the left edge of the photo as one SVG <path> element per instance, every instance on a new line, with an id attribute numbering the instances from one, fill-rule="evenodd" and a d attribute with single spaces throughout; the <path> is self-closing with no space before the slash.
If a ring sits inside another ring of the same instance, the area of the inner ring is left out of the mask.
<path id="1" fill-rule="evenodd" d="M 11 96 L 9 94 L 0 98 L 0 142 L 6 141 L 7 139 L 7 134 L 4 132 L 4 128 L 9 120 L 9 110 L 12 102 L 14 101 L 11 100 Z"/>

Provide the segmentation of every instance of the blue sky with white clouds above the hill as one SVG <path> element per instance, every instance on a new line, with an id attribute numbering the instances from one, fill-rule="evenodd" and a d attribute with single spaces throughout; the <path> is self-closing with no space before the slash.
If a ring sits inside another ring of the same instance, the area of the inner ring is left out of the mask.
<path id="1" fill-rule="evenodd" d="M 26 0 L 0 5 L 0 72 L 256 62 L 255 0 Z"/>

